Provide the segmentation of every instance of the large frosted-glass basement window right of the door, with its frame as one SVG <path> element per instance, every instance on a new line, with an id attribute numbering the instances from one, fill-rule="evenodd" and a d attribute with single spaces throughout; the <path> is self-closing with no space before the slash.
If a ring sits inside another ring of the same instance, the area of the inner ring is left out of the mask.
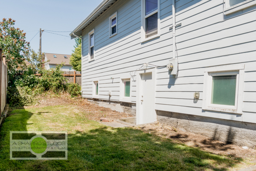
<path id="1" fill-rule="evenodd" d="M 204 110 L 241 113 L 244 65 L 211 67 L 204 72 Z"/>

